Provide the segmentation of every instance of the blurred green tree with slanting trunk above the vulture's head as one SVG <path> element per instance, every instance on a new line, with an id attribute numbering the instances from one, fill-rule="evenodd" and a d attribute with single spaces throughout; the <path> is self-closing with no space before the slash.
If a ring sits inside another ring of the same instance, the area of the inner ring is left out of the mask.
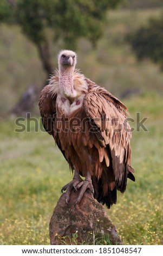
<path id="1" fill-rule="evenodd" d="M 38 48 L 45 71 L 52 72 L 49 35 L 54 42 L 63 41 L 67 48 L 75 50 L 77 41 L 84 36 L 95 45 L 103 34 L 103 24 L 109 8 L 115 8 L 122 0 L 3 0 L 1 21 L 14 22 L 21 27 Z"/>

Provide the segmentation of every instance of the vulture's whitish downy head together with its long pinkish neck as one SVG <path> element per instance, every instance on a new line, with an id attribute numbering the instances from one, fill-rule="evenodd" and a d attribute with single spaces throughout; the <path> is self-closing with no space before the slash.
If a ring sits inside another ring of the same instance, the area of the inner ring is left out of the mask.
<path id="1" fill-rule="evenodd" d="M 58 55 L 58 71 L 60 93 L 67 99 L 75 99 L 77 93 L 74 89 L 74 70 L 76 65 L 76 53 L 70 50 L 62 50 Z"/>

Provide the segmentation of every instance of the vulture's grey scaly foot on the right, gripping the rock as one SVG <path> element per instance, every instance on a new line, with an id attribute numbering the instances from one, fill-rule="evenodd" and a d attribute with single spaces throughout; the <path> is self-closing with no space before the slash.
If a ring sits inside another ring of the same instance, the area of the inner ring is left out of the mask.
<path id="1" fill-rule="evenodd" d="M 90 172 L 87 172 L 86 179 L 84 181 L 77 184 L 76 189 L 78 190 L 80 187 L 81 187 L 81 191 L 79 193 L 79 196 L 77 197 L 75 205 L 80 203 L 83 197 L 83 194 L 86 192 L 87 188 L 89 188 L 89 190 L 94 194 L 94 187 L 92 185 Z"/>

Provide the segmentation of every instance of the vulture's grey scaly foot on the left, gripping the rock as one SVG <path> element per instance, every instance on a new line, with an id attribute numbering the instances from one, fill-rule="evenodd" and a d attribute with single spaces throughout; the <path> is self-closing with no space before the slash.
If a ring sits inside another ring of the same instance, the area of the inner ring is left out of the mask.
<path id="1" fill-rule="evenodd" d="M 70 181 L 68 184 L 64 185 L 62 187 L 62 192 L 66 190 L 66 194 L 65 194 L 65 200 L 66 203 L 68 203 L 69 199 L 70 199 L 70 193 L 71 191 L 75 188 L 75 190 L 78 189 L 78 184 L 83 184 L 84 181 L 81 179 L 79 173 L 77 172 L 77 170 L 75 169 L 75 173 L 74 173 L 74 178 L 72 181 Z M 81 185 L 82 186 L 82 185 Z M 79 186 L 79 187 L 81 187 Z"/>

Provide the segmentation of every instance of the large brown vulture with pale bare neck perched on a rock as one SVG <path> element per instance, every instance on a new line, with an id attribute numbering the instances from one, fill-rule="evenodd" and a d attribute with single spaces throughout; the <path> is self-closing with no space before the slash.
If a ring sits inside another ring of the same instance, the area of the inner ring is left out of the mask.
<path id="1" fill-rule="evenodd" d="M 58 54 L 58 70 L 38 102 L 42 123 L 74 173 L 62 188 L 66 203 L 71 191 L 80 190 L 76 205 L 89 189 L 110 208 L 116 204 L 117 190 L 125 192 L 127 178 L 135 181 L 128 111 L 119 99 L 81 74 L 76 59 L 70 50 Z"/>

